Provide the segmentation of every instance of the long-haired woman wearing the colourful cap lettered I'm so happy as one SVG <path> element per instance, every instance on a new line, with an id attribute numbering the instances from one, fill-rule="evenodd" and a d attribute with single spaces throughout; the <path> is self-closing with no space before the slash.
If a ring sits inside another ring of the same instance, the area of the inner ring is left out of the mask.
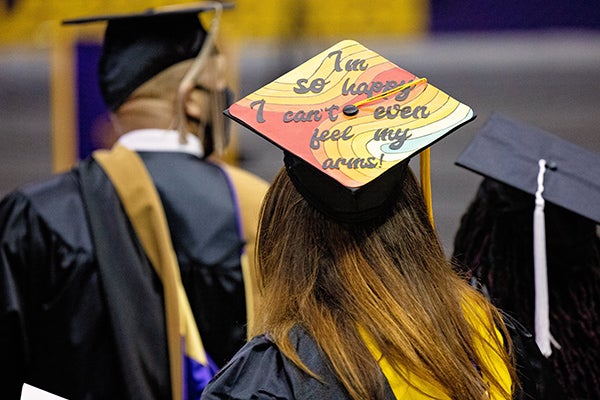
<path id="1" fill-rule="evenodd" d="M 261 213 L 255 336 L 203 400 L 512 398 L 502 318 L 452 270 L 408 166 L 470 107 L 345 40 L 227 114 L 284 167 Z"/>

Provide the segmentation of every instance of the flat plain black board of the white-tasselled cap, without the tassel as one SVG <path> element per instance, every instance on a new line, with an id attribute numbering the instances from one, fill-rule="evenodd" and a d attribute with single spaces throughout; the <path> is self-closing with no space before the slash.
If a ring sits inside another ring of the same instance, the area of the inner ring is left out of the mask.
<path id="1" fill-rule="evenodd" d="M 600 223 L 600 156 L 540 128 L 494 113 L 456 164 L 535 195 L 545 160 L 545 200 Z"/>

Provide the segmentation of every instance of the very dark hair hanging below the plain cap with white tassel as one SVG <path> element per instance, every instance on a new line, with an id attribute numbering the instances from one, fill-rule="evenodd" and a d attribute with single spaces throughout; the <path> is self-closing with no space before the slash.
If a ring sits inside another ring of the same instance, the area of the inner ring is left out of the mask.
<path id="1" fill-rule="evenodd" d="M 534 196 L 486 178 L 454 239 L 457 268 L 491 301 L 534 329 Z M 600 239 L 594 221 L 546 202 L 549 358 L 569 398 L 600 398 Z"/>

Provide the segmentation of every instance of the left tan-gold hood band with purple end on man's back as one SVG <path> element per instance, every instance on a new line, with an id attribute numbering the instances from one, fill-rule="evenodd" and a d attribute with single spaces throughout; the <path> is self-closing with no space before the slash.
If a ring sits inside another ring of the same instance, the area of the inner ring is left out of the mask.
<path id="1" fill-rule="evenodd" d="M 121 145 L 95 151 L 93 157 L 110 178 L 162 281 L 173 400 L 199 398 L 218 367 L 202 345 L 156 187 L 137 153 Z"/>

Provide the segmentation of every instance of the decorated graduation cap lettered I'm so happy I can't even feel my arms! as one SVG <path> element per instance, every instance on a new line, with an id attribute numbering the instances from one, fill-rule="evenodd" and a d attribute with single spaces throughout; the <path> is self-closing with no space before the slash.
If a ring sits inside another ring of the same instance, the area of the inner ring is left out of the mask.
<path id="1" fill-rule="evenodd" d="M 231 105 L 225 114 L 284 151 L 290 179 L 344 222 L 381 216 L 408 160 L 473 110 L 361 44 L 344 40 Z"/>

